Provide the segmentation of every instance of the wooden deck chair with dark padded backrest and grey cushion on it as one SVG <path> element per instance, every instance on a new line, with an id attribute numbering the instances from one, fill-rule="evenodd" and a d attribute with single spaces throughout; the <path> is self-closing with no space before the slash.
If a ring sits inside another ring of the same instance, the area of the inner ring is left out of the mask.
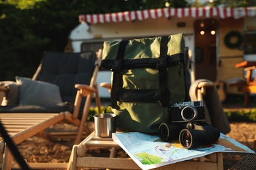
<path id="1" fill-rule="evenodd" d="M 2 102 L 5 106 L 0 106 L 0 120 L 14 144 L 59 122 L 77 126 L 75 144 L 81 141 L 94 94 L 100 111 L 96 76 L 101 56 L 101 49 L 97 54 L 47 52 L 32 80 L 17 77 L 20 84 L 1 82 L 7 95 Z M 14 99 L 10 94 L 19 96 Z M 5 141 L 0 140 L 1 167 L 11 169 L 12 156 Z"/>

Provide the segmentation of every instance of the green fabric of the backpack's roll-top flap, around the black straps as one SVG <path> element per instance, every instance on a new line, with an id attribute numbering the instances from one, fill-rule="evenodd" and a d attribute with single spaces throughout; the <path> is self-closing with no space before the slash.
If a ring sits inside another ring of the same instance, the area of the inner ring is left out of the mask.
<path id="1" fill-rule="evenodd" d="M 135 67 L 156 68 L 156 63 L 160 57 L 160 44 L 162 37 L 133 39 L 127 42 L 122 61 L 122 68 L 129 69 Z M 102 62 L 102 69 L 112 69 L 117 59 L 120 41 L 105 41 Z M 170 35 L 167 42 L 167 65 L 180 61 L 184 58 L 183 34 Z"/>

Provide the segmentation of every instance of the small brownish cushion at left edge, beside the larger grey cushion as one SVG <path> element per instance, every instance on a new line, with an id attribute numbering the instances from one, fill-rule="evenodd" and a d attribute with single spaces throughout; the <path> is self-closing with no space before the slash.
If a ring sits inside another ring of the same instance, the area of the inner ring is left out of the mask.
<path id="1" fill-rule="evenodd" d="M 1 86 L 7 87 L 5 98 L 2 101 L 2 105 L 18 105 L 18 84 L 13 81 L 0 82 Z"/>

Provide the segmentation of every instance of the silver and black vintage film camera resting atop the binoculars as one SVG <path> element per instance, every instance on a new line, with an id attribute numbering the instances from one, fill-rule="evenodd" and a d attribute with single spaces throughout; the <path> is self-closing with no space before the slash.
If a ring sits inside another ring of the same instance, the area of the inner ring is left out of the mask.
<path id="1" fill-rule="evenodd" d="M 170 107 L 169 116 L 172 123 L 203 122 L 205 120 L 203 101 L 175 103 Z"/>

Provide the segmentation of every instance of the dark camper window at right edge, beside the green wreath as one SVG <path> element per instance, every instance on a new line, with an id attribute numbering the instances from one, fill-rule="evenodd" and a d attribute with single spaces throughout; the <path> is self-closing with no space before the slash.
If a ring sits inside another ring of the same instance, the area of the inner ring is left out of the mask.
<path id="1" fill-rule="evenodd" d="M 256 33 L 244 34 L 244 54 L 256 54 Z"/>

